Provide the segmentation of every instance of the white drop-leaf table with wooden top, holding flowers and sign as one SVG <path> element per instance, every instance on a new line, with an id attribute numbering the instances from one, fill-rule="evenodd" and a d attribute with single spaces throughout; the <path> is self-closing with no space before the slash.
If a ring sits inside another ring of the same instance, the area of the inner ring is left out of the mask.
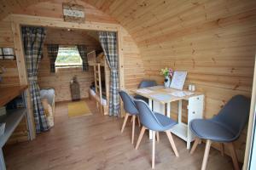
<path id="1" fill-rule="evenodd" d="M 189 122 L 195 118 L 203 118 L 204 95 L 193 92 L 193 94 L 177 97 L 172 95 L 174 92 L 189 94 L 189 91 L 180 91 L 172 88 L 155 86 L 151 88 L 140 88 L 132 90 L 133 93 L 148 98 L 148 105 L 152 111 L 159 112 L 171 117 L 171 103 L 178 101 L 177 125 L 172 127 L 171 132 L 187 142 L 187 149 L 190 149 L 190 143 L 195 139 L 189 128 Z M 188 100 L 188 124 L 182 122 L 182 100 Z M 149 131 L 149 139 L 152 139 L 152 133 Z"/>

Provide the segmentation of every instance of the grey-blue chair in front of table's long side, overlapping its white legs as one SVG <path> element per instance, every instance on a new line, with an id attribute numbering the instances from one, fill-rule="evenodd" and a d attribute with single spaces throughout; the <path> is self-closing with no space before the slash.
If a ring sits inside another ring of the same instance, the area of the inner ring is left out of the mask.
<path id="1" fill-rule="evenodd" d="M 136 99 L 135 104 L 137 106 L 137 110 L 139 111 L 140 121 L 143 124 L 141 133 L 137 139 L 136 150 L 143 139 L 143 134 L 145 130 L 152 130 L 153 132 L 153 146 L 152 146 L 152 168 L 154 168 L 154 150 L 155 150 L 155 132 L 165 132 L 167 137 L 172 145 L 172 150 L 175 153 L 175 156 L 178 156 L 177 148 L 172 139 L 172 133 L 170 129 L 177 124 L 177 122 L 173 121 L 171 118 L 164 116 L 160 113 L 156 113 L 150 110 L 148 104 L 146 104 L 143 100 Z"/>

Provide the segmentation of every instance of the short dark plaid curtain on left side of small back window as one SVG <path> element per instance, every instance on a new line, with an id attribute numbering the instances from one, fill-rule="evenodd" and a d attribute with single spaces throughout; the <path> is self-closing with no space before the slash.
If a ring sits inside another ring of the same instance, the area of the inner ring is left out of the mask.
<path id="1" fill-rule="evenodd" d="M 49 71 L 55 72 L 55 60 L 57 59 L 59 51 L 59 45 L 58 44 L 48 44 L 47 45 L 47 52 L 49 57 Z"/>

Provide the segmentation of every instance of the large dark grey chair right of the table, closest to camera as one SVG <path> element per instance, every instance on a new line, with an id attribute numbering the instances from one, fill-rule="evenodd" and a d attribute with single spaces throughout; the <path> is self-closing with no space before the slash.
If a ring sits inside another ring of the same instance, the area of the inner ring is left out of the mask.
<path id="1" fill-rule="evenodd" d="M 212 141 L 221 144 L 222 154 L 224 154 L 224 144 L 227 144 L 230 148 L 235 169 L 240 169 L 233 142 L 239 138 L 243 127 L 245 127 L 249 111 L 250 99 L 242 95 L 236 95 L 212 119 L 195 119 L 190 122 L 190 129 L 197 137 L 190 153 L 193 154 L 197 144 L 201 143 L 201 139 L 207 140 L 201 166 L 202 170 L 207 168 L 207 159 Z"/>

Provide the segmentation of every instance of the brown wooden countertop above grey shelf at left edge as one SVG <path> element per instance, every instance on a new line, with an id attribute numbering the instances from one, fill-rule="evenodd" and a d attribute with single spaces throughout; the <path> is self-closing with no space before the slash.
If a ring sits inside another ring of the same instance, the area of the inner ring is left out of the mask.
<path id="1" fill-rule="evenodd" d="M 0 87 L 0 106 L 6 105 L 9 101 L 15 99 L 15 97 L 20 95 L 26 88 L 27 85 Z"/>

